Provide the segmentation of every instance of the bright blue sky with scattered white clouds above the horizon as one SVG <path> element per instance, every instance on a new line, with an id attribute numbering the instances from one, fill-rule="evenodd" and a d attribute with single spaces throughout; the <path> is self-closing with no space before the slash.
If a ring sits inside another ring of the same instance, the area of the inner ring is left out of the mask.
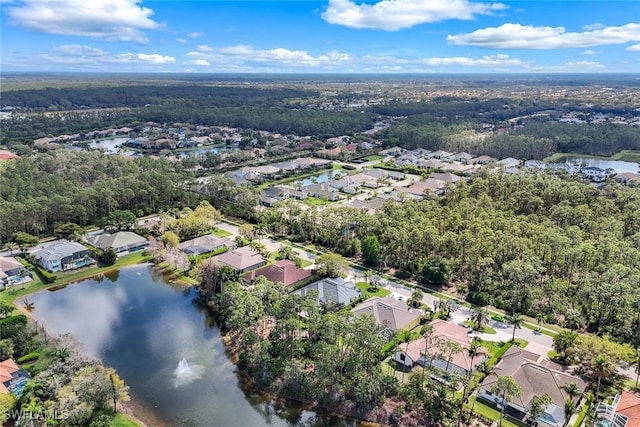
<path id="1" fill-rule="evenodd" d="M 0 0 L 0 71 L 640 72 L 640 1 Z"/>

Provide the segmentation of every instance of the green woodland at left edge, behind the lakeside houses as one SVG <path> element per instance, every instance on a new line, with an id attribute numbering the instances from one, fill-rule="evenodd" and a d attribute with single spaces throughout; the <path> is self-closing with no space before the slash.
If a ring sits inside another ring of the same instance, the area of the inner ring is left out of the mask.
<path id="1" fill-rule="evenodd" d="M 198 204 L 180 164 L 59 150 L 8 163 L 0 174 L 0 239 L 51 234 L 63 223 L 97 224 L 114 210 L 138 216 Z"/>

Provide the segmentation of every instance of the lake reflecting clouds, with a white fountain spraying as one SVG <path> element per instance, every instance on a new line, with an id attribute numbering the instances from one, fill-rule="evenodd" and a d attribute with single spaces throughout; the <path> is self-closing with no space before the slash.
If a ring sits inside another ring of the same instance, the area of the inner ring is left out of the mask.
<path id="1" fill-rule="evenodd" d="M 143 264 L 29 299 L 50 333 L 72 334 L 118 371 L 134 413 L 150 427 L 355 425 L 244 384 L 194 296 Z"/>

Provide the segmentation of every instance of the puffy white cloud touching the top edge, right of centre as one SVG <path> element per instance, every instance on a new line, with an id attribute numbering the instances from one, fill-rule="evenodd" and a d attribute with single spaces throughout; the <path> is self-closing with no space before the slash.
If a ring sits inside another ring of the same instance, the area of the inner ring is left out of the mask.
<path id="1" fill-rule="evenodd" d="M 476 15 L 489 15 L 506 8 L 502 3 L 468 0 L 381 0 L 375 4 L 329 0 L 322 18 L 330 24 L 349 28 L 396 31 L 447 19 L 473 19 Z"/>

